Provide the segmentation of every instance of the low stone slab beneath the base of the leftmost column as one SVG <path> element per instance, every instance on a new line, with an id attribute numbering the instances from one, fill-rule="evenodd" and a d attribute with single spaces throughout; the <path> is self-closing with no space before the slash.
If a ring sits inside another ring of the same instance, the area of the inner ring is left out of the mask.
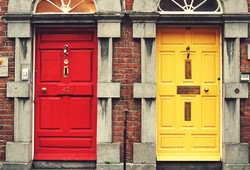
<path id="1" fill-rule="evenodd" d="M 17 162 L 4 162 L 3 170 L 31 170 L 32 162 L 17 163 Z"/>

